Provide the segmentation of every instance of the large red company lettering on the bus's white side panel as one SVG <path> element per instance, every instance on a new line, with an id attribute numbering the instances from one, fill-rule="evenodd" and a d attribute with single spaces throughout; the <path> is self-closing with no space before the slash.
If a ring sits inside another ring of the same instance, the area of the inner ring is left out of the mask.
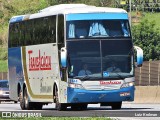
<path id="1" fill-rule="evenodd" d="M 32 56 L 33 51 L 29 50 L 29 71 L 38 71 L 38 70 L 51 70 L 51 56 L 46 56 L 44 52 L 43 55 L 39 50 L 38 56 Z"/>

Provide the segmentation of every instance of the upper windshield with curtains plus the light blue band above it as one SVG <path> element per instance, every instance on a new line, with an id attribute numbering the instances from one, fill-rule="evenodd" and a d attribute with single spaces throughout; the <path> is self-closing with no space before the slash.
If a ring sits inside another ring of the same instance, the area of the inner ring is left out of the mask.
<path id="1" fill-rule="evenodd" d="M 118 16 L 117 16 L 118 15 Z M 73 14 L 67 17 L 67 39 L 130 37 L 126 14 Z M 105 17 L 106 16 L 106 17 Z"/>

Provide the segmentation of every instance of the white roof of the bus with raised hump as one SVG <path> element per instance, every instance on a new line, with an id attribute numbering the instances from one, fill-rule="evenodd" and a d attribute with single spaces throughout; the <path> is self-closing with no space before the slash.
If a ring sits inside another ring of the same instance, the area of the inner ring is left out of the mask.
<path id="1" fill-rule="evenodd" d="M 38 13 L 31 15 L 19 15 L 10 19 L 10 23 L 20 22 L 28 19 L 40 18 L 56 14 L 71 14 L 71 13 L 127 13 L 120 8 L 96 7 L 85 4 L 60 4 L 50 6 L 40 10 Z"/>

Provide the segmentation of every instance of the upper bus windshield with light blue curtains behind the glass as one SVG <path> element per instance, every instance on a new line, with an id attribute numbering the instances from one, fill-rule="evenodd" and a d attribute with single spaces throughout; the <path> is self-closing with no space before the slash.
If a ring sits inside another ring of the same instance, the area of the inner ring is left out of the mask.
<path id="1" fill-rule="evenodd" d="M 67 39 L 130 37 L 128 20 L 67 21 Z"/>

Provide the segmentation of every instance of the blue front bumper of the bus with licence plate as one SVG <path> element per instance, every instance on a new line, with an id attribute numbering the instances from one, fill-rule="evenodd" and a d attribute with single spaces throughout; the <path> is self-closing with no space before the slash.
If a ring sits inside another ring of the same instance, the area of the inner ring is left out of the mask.
<path id="1" fill-rule="evenodd" d="M 135 87 L 121 88 L 118 90 L 85 90 L 70 88 L 67 89 L 68 103 L 103 103 L 134 101 Z"/>

